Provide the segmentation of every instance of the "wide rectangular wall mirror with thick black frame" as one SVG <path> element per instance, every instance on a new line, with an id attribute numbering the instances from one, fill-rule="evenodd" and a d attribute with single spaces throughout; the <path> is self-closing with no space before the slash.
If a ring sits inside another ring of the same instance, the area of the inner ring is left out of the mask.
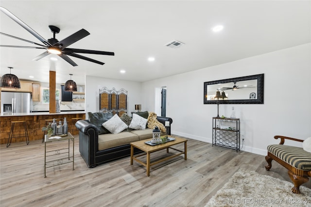
<path id="1" fill-rule="evenodd" d="M 217 91 L 225 95 L 221 104 L 263 104 L 263 78 L 258 74 L 204 82 L 204 104 L 217 104 Z"/>

